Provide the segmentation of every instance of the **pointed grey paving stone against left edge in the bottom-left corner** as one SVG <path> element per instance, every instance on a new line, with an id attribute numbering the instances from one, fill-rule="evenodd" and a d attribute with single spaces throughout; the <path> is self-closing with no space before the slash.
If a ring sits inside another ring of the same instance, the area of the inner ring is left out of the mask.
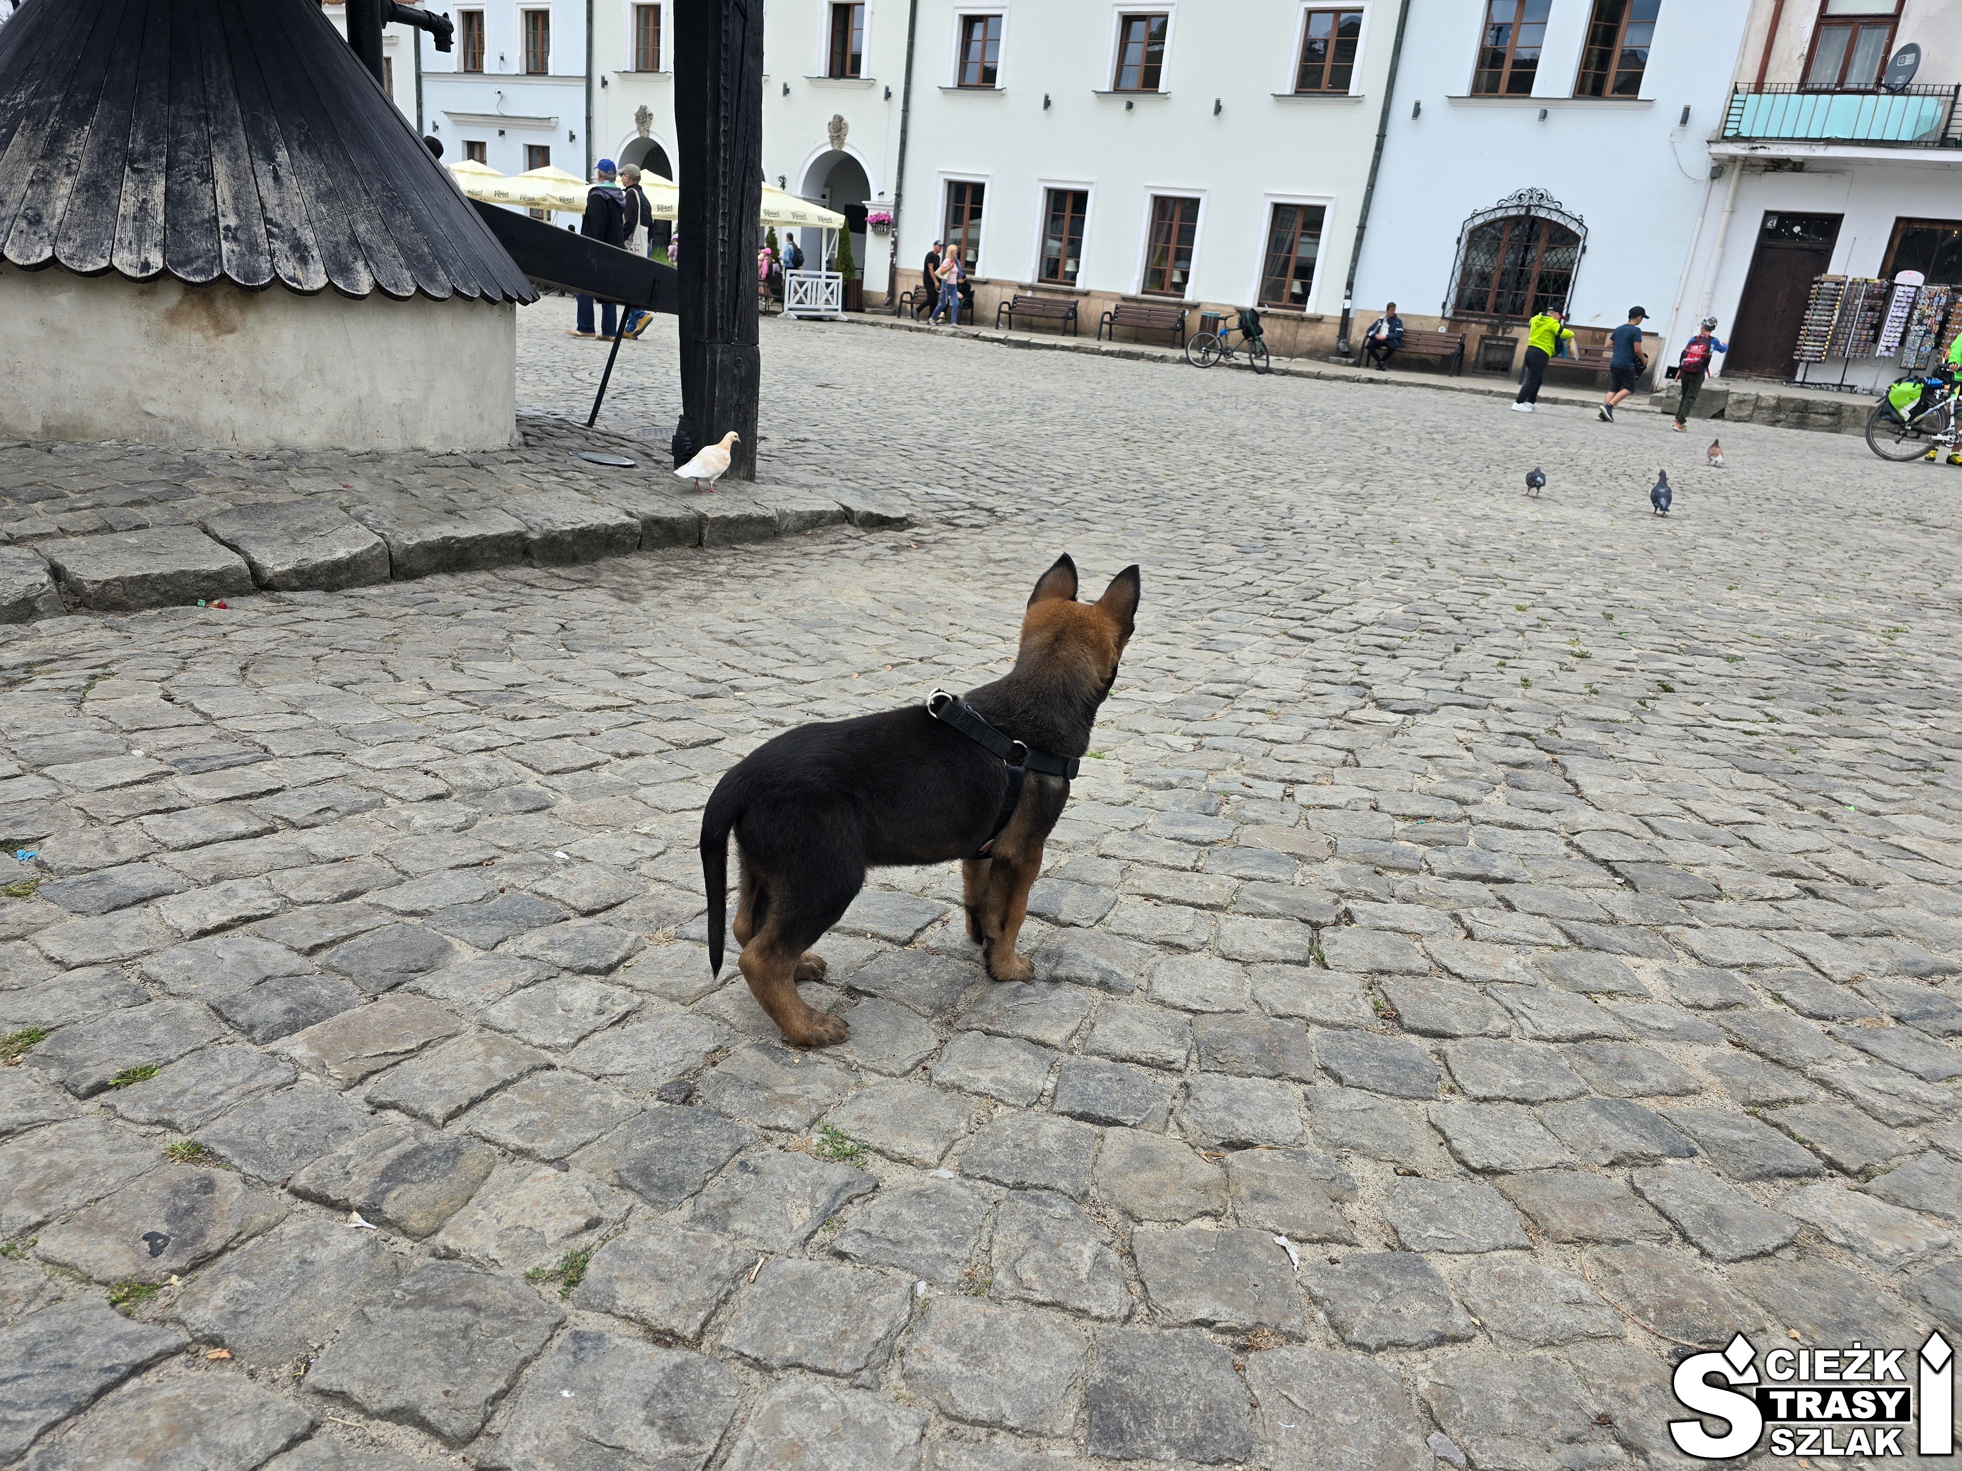
<path id="1" fill-rule="evenodd" d="M 175 1328 L 129 1322 L 102 1298 L 57 1302 L 0 1332 L 0 1457 L 80 1414 L 100 1395 L 182 1347 Z"/>

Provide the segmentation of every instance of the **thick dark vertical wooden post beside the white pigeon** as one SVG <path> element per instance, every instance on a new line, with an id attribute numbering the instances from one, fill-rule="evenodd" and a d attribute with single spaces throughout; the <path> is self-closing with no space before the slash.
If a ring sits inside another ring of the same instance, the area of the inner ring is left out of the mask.
<path id="1" fill-rule="evenodd" d="M 677 0 L 685 437 L 740 435 L 728 473 L 755 479 L 755 237 L 763 208 L 763 0 Z"/>

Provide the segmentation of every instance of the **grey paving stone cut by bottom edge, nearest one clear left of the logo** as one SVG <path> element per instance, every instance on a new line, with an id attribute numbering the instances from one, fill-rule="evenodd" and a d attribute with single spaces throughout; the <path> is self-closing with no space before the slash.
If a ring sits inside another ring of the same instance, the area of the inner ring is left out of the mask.
<path id="1" fill-rule="evenodd" d="M 1454 1353 L 1419 1371 L 1417 1393 L 1479 1467 L 1626 1465 L 1626 1453 L 1564 1363 L 1497 1363 Z"/>

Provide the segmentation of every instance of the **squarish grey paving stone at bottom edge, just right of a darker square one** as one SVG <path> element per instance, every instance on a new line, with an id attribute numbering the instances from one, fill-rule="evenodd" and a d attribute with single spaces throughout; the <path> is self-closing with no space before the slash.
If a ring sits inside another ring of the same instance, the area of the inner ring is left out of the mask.
<path id="1" fill-rule="evenodd" d="M 1254 1353 L 1246 1381 L 1273 1471 L 1422 1471 L 1436 1459 L 1403 1385 L 1362 1353 Z"/>

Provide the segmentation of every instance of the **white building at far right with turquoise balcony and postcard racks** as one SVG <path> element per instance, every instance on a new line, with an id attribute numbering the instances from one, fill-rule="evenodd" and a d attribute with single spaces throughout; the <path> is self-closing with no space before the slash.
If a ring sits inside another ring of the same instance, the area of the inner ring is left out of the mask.
<path id="1" fill-rule="evenodd" d="M 1858 388 L 1899 377 L 1909 365 L 1882 306 L 1895 279 L 1962 288 L 1958 82 L 1954 0 L 1754 0 L 1674 341 L 1713 312 L 1730 377 Z M 1848 302 L 1840 324 L 1809 320 L 1819 277 L 1862 290 L 1864 318 Z"/>

